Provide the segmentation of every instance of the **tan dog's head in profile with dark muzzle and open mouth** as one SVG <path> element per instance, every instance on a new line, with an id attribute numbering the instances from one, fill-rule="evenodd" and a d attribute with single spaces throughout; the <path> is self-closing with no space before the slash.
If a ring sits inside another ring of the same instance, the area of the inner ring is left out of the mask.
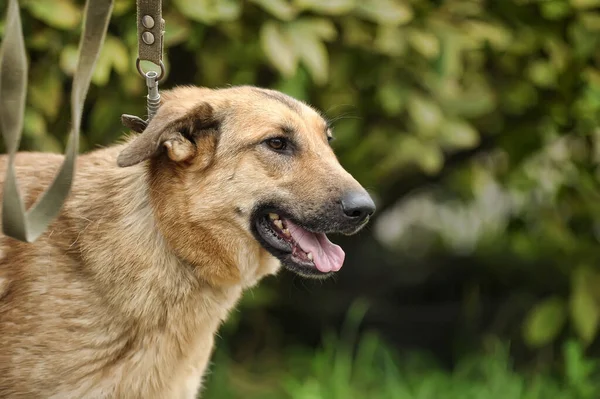
<path id="1" fill-rule="evenodd" d="M 150 160 L 157 219 L 183 258 L 193 261 L 195 246 L 227 256 L 234 245 L 260 244 L 286 268 L 323 277 L 344 261 L 326 234 L 353 234 L 375 211 L 331 139 L 318 112 L 277 91 L 185 87 L 163 94 L 118 163 Z M 222 264 L 234 267 L 235 259 Z"/>

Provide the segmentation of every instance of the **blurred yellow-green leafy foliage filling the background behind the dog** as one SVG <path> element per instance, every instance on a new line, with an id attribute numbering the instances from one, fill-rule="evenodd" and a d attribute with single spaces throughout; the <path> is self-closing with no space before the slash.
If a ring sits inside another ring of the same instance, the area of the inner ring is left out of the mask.
<path id="1" fill-rule="evenodd" d="M 64 148 L 82 3 L 20 2 L 24 150 Z M 373 233 L 389 251 L 472 256 L 542 298 L 522 326 L 531 347 L 572 335 L 590 345 L 600 322 L 598 7 L 165 0 L 164 86 L 256 84 L 315 105 L 334 122 L 341 162 L 377 197 Z M 134 1 L 116 0 L 82 150 L 118 140 L 122 113 L 144 114 L 136 51 Z"/>

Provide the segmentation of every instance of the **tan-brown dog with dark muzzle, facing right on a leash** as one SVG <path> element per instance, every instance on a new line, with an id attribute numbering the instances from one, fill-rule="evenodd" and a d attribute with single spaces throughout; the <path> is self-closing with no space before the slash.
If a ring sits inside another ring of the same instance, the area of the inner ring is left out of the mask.
<path id="1" fill-rule="evenodd" d="M 127 144 L 81 156 L 47 233 L 0 237 L 0 397 L 194 398 L 244 288 L 280 264 L 339 270 L 325 233 L 373 213 L 330 134 L 276 91 L 185 87 Z M 28 206 L 61 160 L 17 156 Z"/>

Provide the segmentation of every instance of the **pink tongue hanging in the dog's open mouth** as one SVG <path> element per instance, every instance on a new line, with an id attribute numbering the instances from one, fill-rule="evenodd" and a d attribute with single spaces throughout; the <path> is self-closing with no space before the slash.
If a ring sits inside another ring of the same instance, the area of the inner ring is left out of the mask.
<path id="1" fill-rule="evenodd" d="M 286 225 L 294 241 L 304 252 L 313 254 L 313 262 L 323 273 L 337 272 L 342 268 L 346 254 L 339 245 L 333 244 L 325 234 L 311 233 L 286 220 Z"/>

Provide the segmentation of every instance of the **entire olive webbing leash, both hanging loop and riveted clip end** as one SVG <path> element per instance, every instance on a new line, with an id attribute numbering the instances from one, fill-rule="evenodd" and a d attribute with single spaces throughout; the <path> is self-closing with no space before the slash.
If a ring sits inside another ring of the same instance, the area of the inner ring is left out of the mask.
<path id="1" fill-rule="evenodd" d="M 0 48 L 0 129 L 8 152 L 4 194 L 2 198 L 2 232 L 23 242 L 33 242 L 58 216 L 75 175 L 79 151 L 81 114 L 92 73 L 108 29 L 113 0 L 86 0 L 83 33 L 79 42 L 79 58 L 71 90 L 71 132 L 65 160 L 50 186 L 30 207 L 25 209 L 15 173 L 15 157 L 23 130 L 27 91 L 27 57 L 19 5 L 9 0 L 4 41 Z M 158 82 L 165 76 L 162 61 L 164 24 L 162 0 L 137 0 L 138 58 L 136 69 L 146 80 L 148 118 L 122 115 L 126 127 L 142 132 L 160 106 Z M 141 61 L 160 67 L 160 73 L 144 71 Z"/>

